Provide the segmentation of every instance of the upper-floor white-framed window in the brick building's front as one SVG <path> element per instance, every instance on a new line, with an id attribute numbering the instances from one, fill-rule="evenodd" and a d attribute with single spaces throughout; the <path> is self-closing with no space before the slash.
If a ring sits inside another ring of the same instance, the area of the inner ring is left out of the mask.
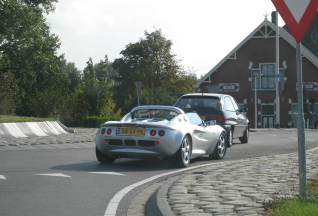
<path id="1" fill-rule="evenodd" d="M 261 73 L 260 77 L 256 77 L 257 89 L 275 89 L 275 64 L 260 64 L 259 69 L 252 70 L 252 89 L 255 89 L 255 74 Z M 279 80 L 283 81 L 283 69 L 279 70 Z"/>

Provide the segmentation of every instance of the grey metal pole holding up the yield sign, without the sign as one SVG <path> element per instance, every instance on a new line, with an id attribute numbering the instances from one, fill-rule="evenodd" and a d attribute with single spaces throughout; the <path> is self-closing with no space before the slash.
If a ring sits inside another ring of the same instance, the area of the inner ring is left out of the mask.
<path id="1" fill-rule="evenodd" d="M 297 97 L 298 97 L 298 163 L 299 163 L 299 193 L 301 197 L 307 196 L 306 172 L 306 139 L 305 121 L 303 117 L 302 98 L 302 69 L 301 69 L 301 42 L 296 42 L 296 67 L 297 67 Z"/>

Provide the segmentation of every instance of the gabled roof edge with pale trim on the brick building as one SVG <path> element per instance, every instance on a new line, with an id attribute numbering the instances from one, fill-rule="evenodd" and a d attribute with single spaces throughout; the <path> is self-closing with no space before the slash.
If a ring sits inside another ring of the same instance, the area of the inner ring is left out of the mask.
<path id="1" fill-rule="evenodd" d="M 227 59 L 229 59 L 233 54 L 242 47 L 253 35 L 255 35 L 262 27 L 269 26 L 273 31 L 276 31 L 276 25 L 272 22 L 268 21 L 267 18 L 260 23 L 250 34 L 248 34 L 245 39 L 243 39 L 234 49 L 232 49 L 221 61 L 219 61 L 210 71 L 208 71 L 202 78 L 200 78 L 194 85 L 194 88 L 198 88 L 200 84 L 207 79 L 218 67 L 220 67 Z M 292 47 L 296 48 L 296 40 L 295 38 L 288 33 L 282 27 L 279 27 L 279 36 L 285 39 Z M 301 54 L 306 57 L 310 62 L 312 62 L 316 67 L 318 67 L 318 57 L 314 55 L 311 51 L 309 51 L 306 47 L 301 45 Z"/>

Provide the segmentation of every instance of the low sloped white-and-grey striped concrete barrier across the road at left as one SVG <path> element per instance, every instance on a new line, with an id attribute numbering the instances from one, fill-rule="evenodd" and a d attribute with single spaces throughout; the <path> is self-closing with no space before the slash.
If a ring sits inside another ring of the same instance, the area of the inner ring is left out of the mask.
<path id="1" fill-rule="evenodd" d="M 72 132 L 74 132 L 73 129 L 66 127 L 59 121 L 0 123 L 0 138 L 48 136 Z"/>

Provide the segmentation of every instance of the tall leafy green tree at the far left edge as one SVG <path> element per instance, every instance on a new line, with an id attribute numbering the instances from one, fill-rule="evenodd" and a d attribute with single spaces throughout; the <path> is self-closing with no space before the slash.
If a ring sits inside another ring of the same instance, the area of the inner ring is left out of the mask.
<path id="1" fill-rule="evenodd" d="M 0 0 L 0 73 L 17 82 L 19 115 L 52 116 L 60 104 L 66 80 L 60 71 L 63 56 L 56 55 L 59 39 L 42 14 L 53 11 L 54 2 Z"/>

